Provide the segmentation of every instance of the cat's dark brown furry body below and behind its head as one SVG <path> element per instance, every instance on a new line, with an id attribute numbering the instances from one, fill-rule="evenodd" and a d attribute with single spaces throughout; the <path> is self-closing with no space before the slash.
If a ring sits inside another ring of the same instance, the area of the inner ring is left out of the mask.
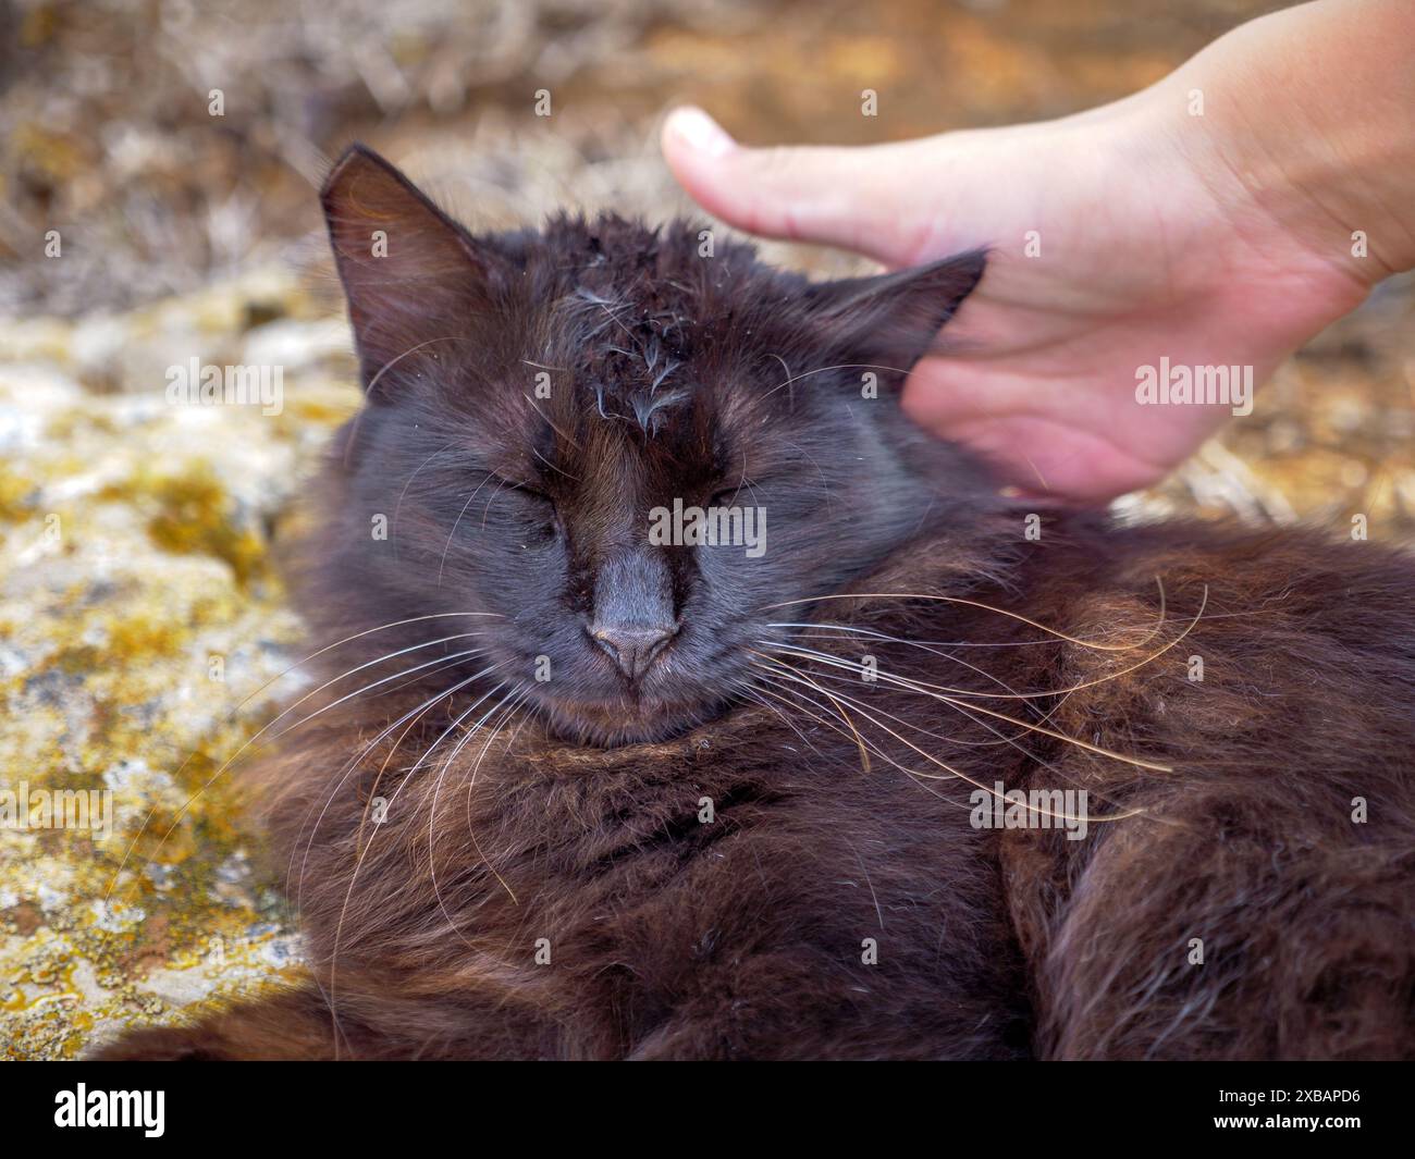
<path id="1" fill-rule="evenodd" d="M 376 740 L 427 699 L 395 682 L 296 729 L 258 781 L 311 982 L 102 1057 L 1415 1054 L 1411 559 L 1060 512 L 1029 541 L 941 470 L 957 502 L 768 616 L 829 627 L 763 631 L 758 684 L 702 723 L 644 740 L 607 734 L 620 709 L 512 702 L 420 760 L 484 685 Z M 355 484 L 328 485 L 335 525 Z M 314 566 L 318 642 L 423 611 Z M 979 831 L 995 781 L 1135 815 Z"/>

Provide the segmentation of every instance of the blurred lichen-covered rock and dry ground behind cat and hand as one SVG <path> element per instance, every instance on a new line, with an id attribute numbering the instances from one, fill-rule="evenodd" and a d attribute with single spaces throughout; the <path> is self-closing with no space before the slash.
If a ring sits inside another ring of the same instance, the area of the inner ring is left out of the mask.
<path id="1" fill-rule="evenodd" d="M 262 689 L 297 658 L 272 560 L 358 398 L 314 197 L 344 144 L 478 226 L 567 205 L 661 219 L 689 208 L 655 144 L 674 103 L 749 143 L 1051 117 L 1276 7 L 0 0 L 0 788 L 115 802 L 102 841 L 0 829 L 0 1057 L 72 1056 L 297 968 L 222 764 L 296 686 Z M 1341 528 L 1364 512 L 1415 535 L 1412 313 L 1411 280 L 1387 283 L 1125 504 Z M 192 357 L 282 365 L 282 413 L 164 405 Z"/>

